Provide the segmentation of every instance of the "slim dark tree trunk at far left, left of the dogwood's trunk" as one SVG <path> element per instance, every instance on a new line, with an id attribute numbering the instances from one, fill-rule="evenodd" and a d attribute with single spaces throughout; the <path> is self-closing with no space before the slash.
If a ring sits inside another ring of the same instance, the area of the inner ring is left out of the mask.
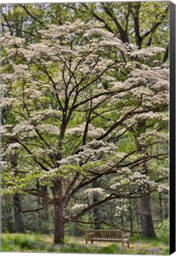
<path id="1" fill-rule="evenodd" d="M 24 226 L 22 223 L 21 212 L 19 212 L 19 196 L 15 193 L 13 196 L 14 200 L 14 217 L 15 217 L 15 233 L 24 233 Z"/>

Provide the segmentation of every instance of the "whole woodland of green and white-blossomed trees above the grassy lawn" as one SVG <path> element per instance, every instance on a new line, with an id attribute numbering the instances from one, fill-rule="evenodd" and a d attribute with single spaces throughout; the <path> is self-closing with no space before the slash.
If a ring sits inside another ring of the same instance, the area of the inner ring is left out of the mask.
<path id="1" fill-rule="evenodd" d="M 169 2 L 1 5 L 1 33 L 2 233 L 167 237 Z"/>

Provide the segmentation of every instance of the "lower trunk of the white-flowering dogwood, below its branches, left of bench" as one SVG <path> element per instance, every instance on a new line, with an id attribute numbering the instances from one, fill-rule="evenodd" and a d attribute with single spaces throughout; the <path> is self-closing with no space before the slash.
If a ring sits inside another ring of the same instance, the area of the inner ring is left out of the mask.
<path id="1" fill-rule="evenodd" d="M 57 203 L 54 205 L 54 244 L 64 243 L 65 220 L 63 210 Z"/>

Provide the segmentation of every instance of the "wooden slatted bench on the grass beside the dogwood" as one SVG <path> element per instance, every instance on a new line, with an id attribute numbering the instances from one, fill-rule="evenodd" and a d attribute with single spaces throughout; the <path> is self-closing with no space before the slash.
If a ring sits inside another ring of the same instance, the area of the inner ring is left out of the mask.
<path id="1" fill-rule="evenodd" d="M 91 244 L 93 244 L 93 241 L 122 242 L 122 246 L 124 247 L 124 243 L 127 242 L 129 248 L 129 233 L 124 235 L 123 231 L 102 229 L 85 229 L 84 233 L 86 244 L 87 241 L 91 241 Z"/>

